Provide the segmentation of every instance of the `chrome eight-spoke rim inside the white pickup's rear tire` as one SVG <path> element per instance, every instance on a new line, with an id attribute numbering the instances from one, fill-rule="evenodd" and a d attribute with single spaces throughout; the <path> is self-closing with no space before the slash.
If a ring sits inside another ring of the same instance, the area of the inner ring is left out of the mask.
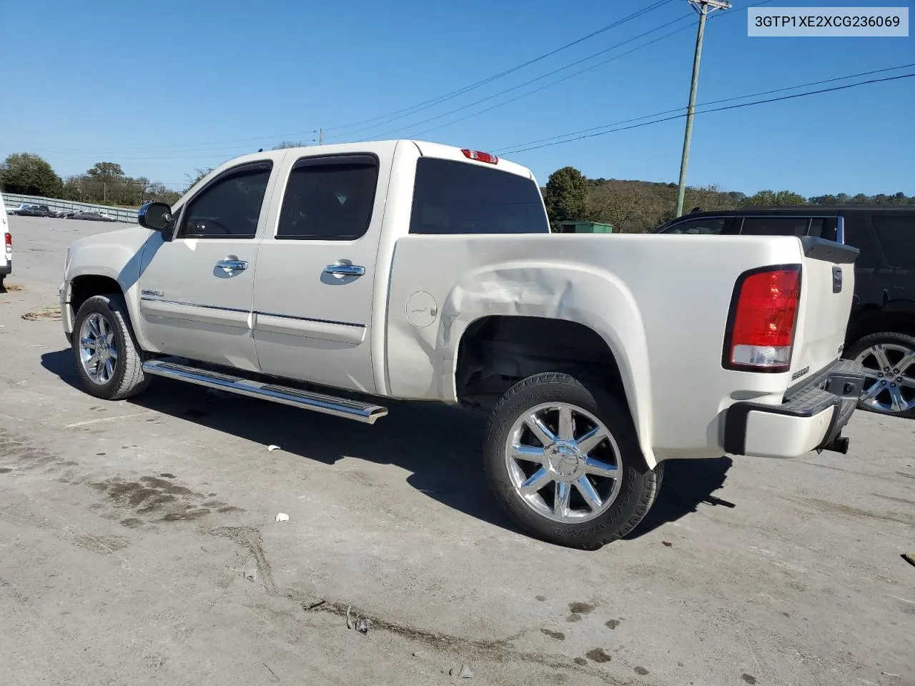
<path id="1" fill-rule="evenodd" d="M 619 495 L 619 445 L 597 417 L 570 403 L 524 413 L 508 434 L 505 466 L 515 492 L 549 520 L 593 520 Z"/>

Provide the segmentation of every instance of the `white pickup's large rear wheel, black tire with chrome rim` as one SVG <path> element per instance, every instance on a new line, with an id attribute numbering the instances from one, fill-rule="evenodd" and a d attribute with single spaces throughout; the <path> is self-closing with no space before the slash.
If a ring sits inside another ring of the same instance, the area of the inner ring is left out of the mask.
<path id="1" fill-rule="evenodd" d="M 565 431 L 561 408 L 571 412 Z M 540 438 L 525 419 L 532 413 L 541 420 Z M 595 430 L 606 438 L 588 439 Z M 562 434 L 577 441 L 550 440 Z M 663 472 L 663 463 L 646 466 L 624 402 L 596 383 L 555 372 L 528 377 L 502 396 L 490 416 L 483 456 L 490 488 L 512 521 L 539 539 L 584 550 L 630 533 L 651 509 Z M 599 507 L 588 504 L 582 478 Z M 525 496 L 522 485 L 529 487 Z M 559 498 L 561 491 L 567 498 Z"/>

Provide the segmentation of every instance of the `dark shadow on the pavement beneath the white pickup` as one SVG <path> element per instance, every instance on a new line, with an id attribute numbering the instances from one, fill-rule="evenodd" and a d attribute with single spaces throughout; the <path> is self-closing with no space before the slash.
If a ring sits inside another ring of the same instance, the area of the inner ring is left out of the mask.
<path id="1" fill-rule="evenodd" d="M 70 349 L 42 355 L 41 364 L 82 390 Z M 344 456 L 396 465 L 409 472 L 406 482 L 427 497 L 519 532 L 483 476 L 480 445 L 485 419 L 477 414 L 434 403 L 388 402 L 388 416 L 369 426 L 167 379 L 156 379 L 148 391 L 128 402 L 256 444 L 279 445 L 286 454 L 327 465 Z M 267 459 L 267 453 L 263 455 Z M 701 502 L 723 503 L 711 493 L 721 488 L 730 465 L 727 457 L 669 463 L 658 500 L 627 538 L 695 512 Z"/>

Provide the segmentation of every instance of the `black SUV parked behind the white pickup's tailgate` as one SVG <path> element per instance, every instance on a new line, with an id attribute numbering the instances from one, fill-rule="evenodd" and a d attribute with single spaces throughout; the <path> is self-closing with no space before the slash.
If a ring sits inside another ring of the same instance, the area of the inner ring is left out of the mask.
<path id="1" fill-rule="evenodd" d="M 656 232 L 818 236 L 855 246 L 861 254 L 855 262 L 845 357 L 868 370 L 859 405 L 915 417 L 915 207 L 694 211 Z"/>

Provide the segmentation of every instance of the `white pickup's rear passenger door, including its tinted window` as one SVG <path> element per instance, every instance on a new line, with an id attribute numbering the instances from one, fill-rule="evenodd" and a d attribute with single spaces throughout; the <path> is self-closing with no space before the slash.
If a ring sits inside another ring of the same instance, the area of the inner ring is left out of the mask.
<path id="1" fill-rule="evenodd" d="M 371 305 L 389 175 L 368 153 L 292 164 L 254 284 L 254 345 L 265 373 L 374 391 Z"/>

